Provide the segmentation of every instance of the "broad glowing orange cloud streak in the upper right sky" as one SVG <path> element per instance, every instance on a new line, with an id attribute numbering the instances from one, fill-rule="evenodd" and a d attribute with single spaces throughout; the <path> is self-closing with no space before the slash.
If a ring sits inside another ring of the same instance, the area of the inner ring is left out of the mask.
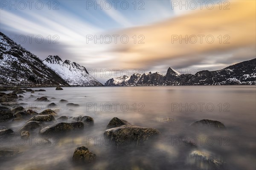
<path id="1" fill-rule="evenodd" d="M 229 10 L 215 6 L 212 10 L 193 11 L 162 23 L 123 30 L 120 34 L 136 35 L 137 43 L 119 43 L 114 55 L 124 68 L 143 68 L 154 61 L 221 54 L 248 46 L 252 47 L 248 53 L 255 55 L 255 7 L 253 0 L 230 1 Z M 138 39 L 139 35 L 145 37 L 144 44 L 138 44 L 142 39 Z"/>

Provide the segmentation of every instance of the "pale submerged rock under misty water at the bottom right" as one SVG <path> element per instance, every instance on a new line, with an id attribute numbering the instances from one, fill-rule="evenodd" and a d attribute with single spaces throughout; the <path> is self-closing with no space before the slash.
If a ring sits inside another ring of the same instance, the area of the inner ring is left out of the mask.
<path id="1" fill-rule="evenodd" d="M 221 159 L 212 156 L 210 153 L 201 152 L 199 150 L 194 150 L 190 153 L 190 159 L 191 163 L 201 170 L 219 170 L 224 167 L 224 162 Z"/>

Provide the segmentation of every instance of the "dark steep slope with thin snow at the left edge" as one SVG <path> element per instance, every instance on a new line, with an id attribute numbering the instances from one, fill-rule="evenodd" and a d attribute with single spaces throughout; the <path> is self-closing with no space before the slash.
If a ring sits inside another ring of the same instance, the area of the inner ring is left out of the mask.
<path id="1" fill-rule="evenodd" d="M 0 32 L 0 85 L 68 85 L 52 69 Z"/>

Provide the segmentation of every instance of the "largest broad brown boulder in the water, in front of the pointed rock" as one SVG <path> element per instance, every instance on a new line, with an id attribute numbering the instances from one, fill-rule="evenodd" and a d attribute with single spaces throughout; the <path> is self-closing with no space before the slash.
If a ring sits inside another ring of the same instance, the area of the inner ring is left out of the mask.
<path id="1" fill-rule="evenodd" d="M 105 138 L 109 138 L 111 143 L 122 146 L 127 144 L 143 144 L 148 139 L 157 137 L 160 132 L 150 127 L 139 127 L 134 125 L 122 125 L 105 130 Z"/>

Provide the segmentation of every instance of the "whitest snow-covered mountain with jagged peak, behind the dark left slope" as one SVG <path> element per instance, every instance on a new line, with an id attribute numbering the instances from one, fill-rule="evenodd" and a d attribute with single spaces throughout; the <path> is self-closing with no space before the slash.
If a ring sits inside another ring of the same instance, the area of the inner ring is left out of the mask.
<path id="1" fill-rule="evenodd" d="M 62 61 L 58 56 L 48 56 L 43 63 L 52 68 L 62 79 L 69 85 L 74 86 L 103 86 L 95 78 L 88 74 L 86 68 L 71 62 L 70 60 Z"/>

